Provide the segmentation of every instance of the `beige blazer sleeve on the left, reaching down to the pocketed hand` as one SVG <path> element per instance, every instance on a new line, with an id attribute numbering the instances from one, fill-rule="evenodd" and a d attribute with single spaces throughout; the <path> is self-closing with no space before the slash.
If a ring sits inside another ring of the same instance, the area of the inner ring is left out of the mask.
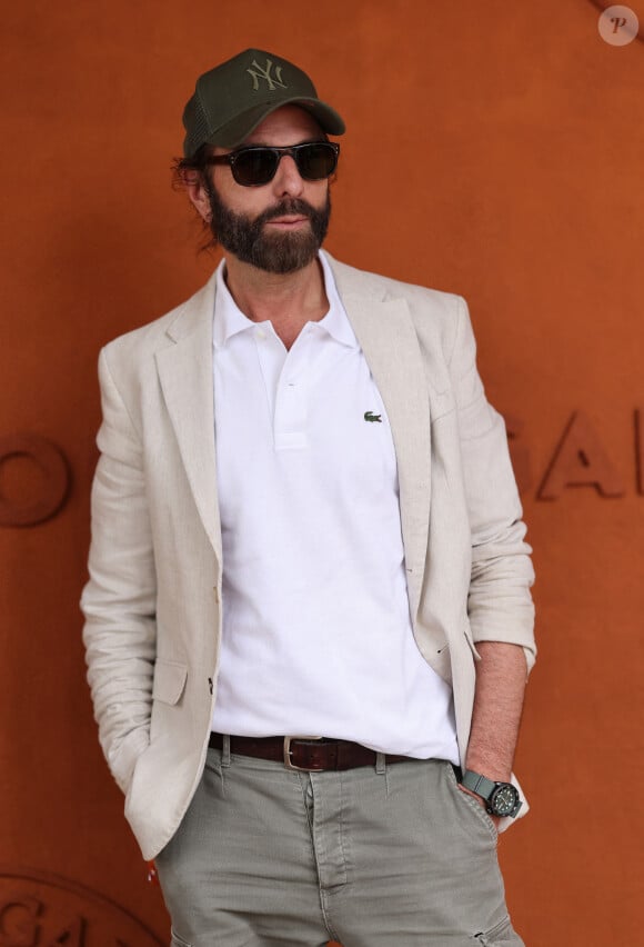
<path id="1" fill-rule="evenodd" d="M 88 681 L 103 752 L 123 791 L 149 744 L 157 585 L 143 452 L 103 349 L 103 421 L 92 486 L 89 581 L 81 608 Z"/>

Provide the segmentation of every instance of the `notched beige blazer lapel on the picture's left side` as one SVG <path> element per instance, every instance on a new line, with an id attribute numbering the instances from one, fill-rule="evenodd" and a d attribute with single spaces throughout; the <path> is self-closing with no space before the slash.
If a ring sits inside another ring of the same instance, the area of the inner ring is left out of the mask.
<path id="1" fill-rule="evenodd" d="M 173 345 L 157 352 L 157 368 L 194 501 L 221 561 L 212 378 L 214 285 L 213 276 L 181 307 L 168 329 Z"/>

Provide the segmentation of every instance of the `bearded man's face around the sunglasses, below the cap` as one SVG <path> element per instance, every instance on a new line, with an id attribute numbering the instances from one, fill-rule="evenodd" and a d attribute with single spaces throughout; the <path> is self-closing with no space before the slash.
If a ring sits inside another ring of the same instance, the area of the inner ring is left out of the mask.
<path id="1" fill-rule="evenodd" d="M 285 106 L 270 114 L 244 144 L 291 146 L 324 136 L 305 111 Z M 214 153 L 224 154 L 218 148 Z M 305 181 L 290 154 L 268 185 L 238 185 L 230 166 L 212 168 L 209 187 L 189 186 L 192 202 L 213 236 L 239 260 L 266 272 L 288 273 L 314 259 L 326 235 L 331 211 L 329 181 Z"/>

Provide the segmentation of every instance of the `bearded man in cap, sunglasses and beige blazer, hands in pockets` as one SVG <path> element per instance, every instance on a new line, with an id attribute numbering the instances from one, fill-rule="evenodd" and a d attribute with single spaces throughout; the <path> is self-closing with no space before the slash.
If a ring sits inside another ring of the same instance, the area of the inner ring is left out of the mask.
<path id="1" fill-rule="evenodd" d="M 172 943 L 520 945 L 532 568 L 465 303 L 320 251 L 344 123 L 292 63 L 240 53 L 183 121 L 224 260 L 101 353 L 82 602 Z"/>

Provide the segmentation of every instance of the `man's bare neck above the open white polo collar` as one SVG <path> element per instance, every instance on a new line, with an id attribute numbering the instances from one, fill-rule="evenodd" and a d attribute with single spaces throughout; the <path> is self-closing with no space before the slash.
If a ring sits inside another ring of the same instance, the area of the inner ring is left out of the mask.
<path id="1" fill-rule="evenodd" d="M 329 310 L 322 265 L 315 258 L 293 273 L 268 273 L 225 257 L 225 281 L 241 311 L 253 322 L 270 320 L 290 349 L 306 322 L 318 322 Z"/>

